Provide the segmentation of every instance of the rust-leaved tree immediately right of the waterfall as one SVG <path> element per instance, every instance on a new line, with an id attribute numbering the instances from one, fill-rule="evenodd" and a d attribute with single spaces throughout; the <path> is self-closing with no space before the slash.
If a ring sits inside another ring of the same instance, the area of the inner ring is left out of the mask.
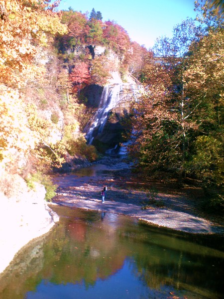
<path id="1" fill-rule="evenodd" d="M 161 170 L 178 173 L 181 165 L 181 126 L 172 99 L 172 75 L 154 64 L 146 92 L 132 106 L 134 142 L 129 150 L 149 176 Z"/>

